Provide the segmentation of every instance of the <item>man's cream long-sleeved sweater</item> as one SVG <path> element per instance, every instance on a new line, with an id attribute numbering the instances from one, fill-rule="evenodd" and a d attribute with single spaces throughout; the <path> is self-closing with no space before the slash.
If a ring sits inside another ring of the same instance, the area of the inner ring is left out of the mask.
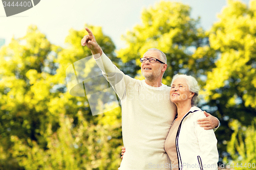
<path id="1" fill-rule="evenodd" d="M 104 53 L 96 62 L 121 99 L 125 154 L 119 169 L 170 169 L 164 150 L 176 115 L 170 87 L 152 87 L 124 75 Z"/>

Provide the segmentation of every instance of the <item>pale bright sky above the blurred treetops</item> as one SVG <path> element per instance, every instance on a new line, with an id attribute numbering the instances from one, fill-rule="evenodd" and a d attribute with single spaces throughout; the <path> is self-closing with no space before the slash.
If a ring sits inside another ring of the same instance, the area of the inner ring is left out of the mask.
<path id="1" fill-rule="evenodd" d="M 84 24 L 101 26 L 105 35 L 114 41 L 117 50 L 125 47 L 121 35 L 141 23 L 143 8 L 153 6 L 156 0 L 41 0 L 33 8 L 22 13 L 6 17 L 3 5 L 0 5 L 0 38 L 5 44 L 12 37 L 26 35 L 29 25 L 36 25 L 48 40 L 65 47 L 65 38 L 71 28 L 84 29 Z M 225 0 L 177 0 L 189 5 L 191 17 L 201 17 L 200 25 L 209 30 L 218 21 L 217 14 L 227 5 Z M 249 5 L 249 0 L 243 0 Z M 97 37 L 96 37 L 97 40 Z"/>

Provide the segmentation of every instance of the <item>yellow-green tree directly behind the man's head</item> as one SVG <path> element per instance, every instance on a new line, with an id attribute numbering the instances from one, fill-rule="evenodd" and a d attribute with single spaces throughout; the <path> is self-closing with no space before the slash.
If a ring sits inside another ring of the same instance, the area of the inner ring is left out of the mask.
<path id="1" fill-rule="evenodd" d="M 158 48 L 166 54 L 167 70 L 163 83 L 170 84 L 174 74 L 183 73 L 205 80 L 206 71 L 215 66 L 215 51 L 208 45 L 199 19 L 190 17 L 191 8 L 182 3 L 161 1 L 144 9 L 142 23 L 122 38 L 127 47 L 117 52 L 125 63 L 122 70 L 141 78 L 139 58 L 149 48 Z"/>

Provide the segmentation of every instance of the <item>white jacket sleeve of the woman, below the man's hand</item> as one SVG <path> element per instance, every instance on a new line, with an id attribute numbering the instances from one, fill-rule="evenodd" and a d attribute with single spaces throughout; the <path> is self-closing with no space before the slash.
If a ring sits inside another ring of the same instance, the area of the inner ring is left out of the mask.
<path id="1" fill-rule="evenodd" d="M 202 111 L 199 111 L 197 118 L 203 118 L 205 115 Z M 199 148 L 202 153 L 202 157 L 198 157 L 198 161 L 202 162 L 203 169 L 218 169 L 219 154 L 217 150 L 217 139 L 214 130 L 204 130 L 197 122 L 194 122 L 195 133 L 198 139 Z"/>

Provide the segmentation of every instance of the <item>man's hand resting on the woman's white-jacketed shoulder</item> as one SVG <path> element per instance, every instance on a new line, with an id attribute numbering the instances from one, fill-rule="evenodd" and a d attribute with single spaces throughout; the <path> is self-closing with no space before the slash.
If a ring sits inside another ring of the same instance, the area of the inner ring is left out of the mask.
<path id="1" fill-rule="evenodd" d="M 212 116 L 211 114 L 204 111 L 205 118 L 200 118 L 197 120 L 197 124 L 205 130 L 210 130 L 217 128 L 219 126 L 219 120 Z"/>

